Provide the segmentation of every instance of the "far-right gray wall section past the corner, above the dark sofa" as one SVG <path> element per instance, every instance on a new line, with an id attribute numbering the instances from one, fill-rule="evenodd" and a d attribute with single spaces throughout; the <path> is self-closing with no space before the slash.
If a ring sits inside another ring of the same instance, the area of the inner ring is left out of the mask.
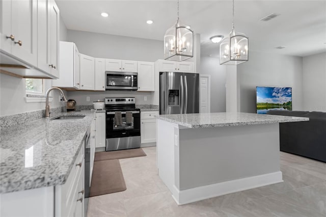
<path id="1" fill-rule="evenodd" d="M 303 110 L 326 112 L 326 52 L 303 58 Z"/>

